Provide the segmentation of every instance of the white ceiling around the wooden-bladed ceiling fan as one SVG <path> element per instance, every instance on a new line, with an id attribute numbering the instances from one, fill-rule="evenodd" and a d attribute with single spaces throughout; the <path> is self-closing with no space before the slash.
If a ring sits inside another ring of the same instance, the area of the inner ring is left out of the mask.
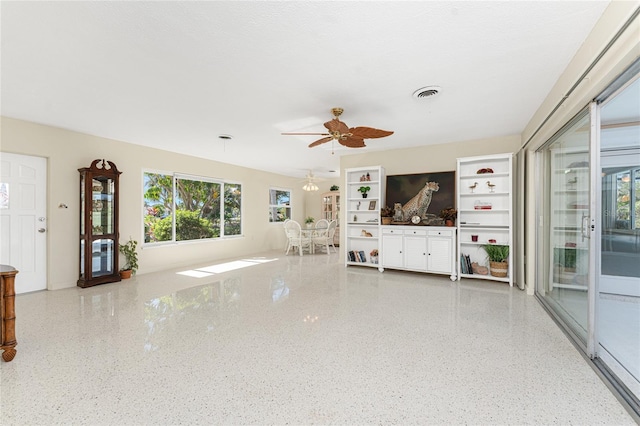
<path id="1" fill-rule="evenodd" d="M 340 155 L 520 133 L 607 5 L 2 1 L 1 112 L 337 176 Z M 412 97 L 427 85 L 442 90 Z M 323 131 L 332 107 L 351 127 L 395 133 L 335 154 L 280 134 Z"/>

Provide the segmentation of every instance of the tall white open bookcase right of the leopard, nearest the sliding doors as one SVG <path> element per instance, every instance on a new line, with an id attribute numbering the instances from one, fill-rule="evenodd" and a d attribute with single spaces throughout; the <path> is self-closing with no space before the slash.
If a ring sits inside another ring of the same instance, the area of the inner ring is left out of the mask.
<path id="1" fill-rule="evenodd" d="M 513 286 L 513 154 L 458 158 L 458 277 Z M 489 269 L 486 244 L 509 246 L 507 276 L 473 273 L 475 262 Z M 468 259 L 468 260 L 467 260 Z"/>

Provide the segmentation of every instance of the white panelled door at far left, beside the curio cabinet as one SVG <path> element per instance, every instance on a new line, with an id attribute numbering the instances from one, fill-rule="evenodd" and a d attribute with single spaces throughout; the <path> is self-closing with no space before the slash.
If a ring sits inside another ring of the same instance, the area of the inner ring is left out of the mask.
<path id="1" fill-rule="evenodd" d="M 47 160 L 0 152 L 0 263 L 11 265 L 16 293 L 47 288 Z"/>

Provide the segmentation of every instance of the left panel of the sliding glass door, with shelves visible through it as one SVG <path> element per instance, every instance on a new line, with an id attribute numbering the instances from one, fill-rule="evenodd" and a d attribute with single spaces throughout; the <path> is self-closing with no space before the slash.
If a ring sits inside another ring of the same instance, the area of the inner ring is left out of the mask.
<path id="1" fill-rule="evenodd" d="M 545 272 L 538 294 L 586 348 L 590 252 L 590 115 L 584 110 L 542 151 L 547 170 Z"/>

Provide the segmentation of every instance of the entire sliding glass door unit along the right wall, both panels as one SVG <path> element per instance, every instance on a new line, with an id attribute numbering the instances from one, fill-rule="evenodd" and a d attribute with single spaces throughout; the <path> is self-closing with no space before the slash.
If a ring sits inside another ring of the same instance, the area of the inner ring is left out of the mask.
<path id="1" fill-rule="evenodd" d="M 640 61 L 537 159 L 536 294 L 640 412 Z"/>

